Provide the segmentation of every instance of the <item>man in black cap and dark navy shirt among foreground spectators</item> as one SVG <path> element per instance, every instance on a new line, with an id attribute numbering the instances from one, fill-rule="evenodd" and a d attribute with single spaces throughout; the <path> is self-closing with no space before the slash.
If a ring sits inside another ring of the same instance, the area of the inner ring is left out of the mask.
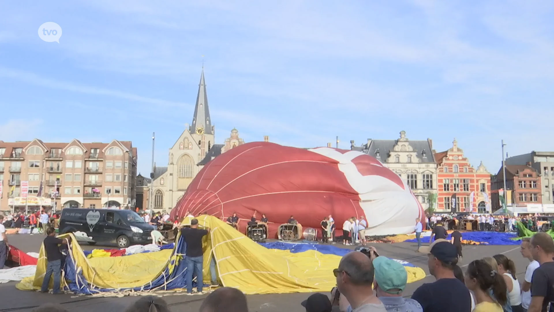
<path id="1" fill-rule="evenodd" d="M 428 253 L 429 273 L 437 281 L 419 286 L 412 299 L 418 301 L 425 312 L 470 312 L 469 290 L 454 276 L 458 263 L 456 247 L 448 240 L 437 239 L 429 246 L 421 246 L 419 252 Z"/>

